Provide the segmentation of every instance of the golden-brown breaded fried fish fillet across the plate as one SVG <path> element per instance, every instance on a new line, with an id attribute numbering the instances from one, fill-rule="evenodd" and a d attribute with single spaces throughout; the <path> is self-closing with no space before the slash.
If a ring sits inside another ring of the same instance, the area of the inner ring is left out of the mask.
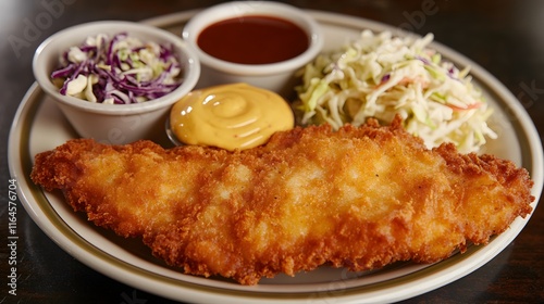
<path id="1" fill-rule="evenodd" d="M 235 152 L 76 139 L 38 154 L 32 179 L 186 274 L 243 284 L 323 264 L 437 262 L 489 242 L 534 200 L 526 169 L 428 150 L 398 119 L 296 128 Z"/>

